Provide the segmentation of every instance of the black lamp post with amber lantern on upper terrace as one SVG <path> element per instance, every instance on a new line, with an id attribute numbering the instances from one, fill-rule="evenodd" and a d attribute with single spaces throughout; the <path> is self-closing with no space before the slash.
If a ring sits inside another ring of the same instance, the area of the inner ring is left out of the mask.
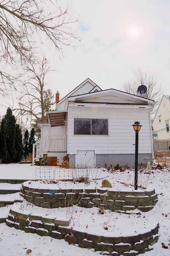
<path id="1" fill-rule="evenodd" d="M 138 179 L 138 142 L 139 142 L 139 131 L 142 127 L 140 122 L 132 124 L 135 130 L 135 190 L 137 190 L 137 179 Z"/>

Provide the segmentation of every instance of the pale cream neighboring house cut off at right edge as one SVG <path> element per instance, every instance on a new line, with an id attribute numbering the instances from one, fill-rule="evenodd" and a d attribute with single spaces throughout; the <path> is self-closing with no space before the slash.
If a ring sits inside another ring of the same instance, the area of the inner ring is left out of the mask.
<path id="1" fill-rule="evenodd" d="M 153 120 L 153 136 L 170 139 L 170 95 L 163 95 Z"/>

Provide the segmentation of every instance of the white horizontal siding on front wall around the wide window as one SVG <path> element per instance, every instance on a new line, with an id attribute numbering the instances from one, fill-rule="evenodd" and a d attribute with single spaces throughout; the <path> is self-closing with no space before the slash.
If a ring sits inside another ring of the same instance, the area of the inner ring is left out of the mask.
<path id="1" fill-rule="evenodd" d="M 109 136 L 74 135 L 74 117 L 108 118 Z M 69 107 L 67 153 L 77 154 L 77 150 L 95 150 L 95 154 L 133 154 L 135 153 L 135 121 L 142 124 L 139 132 L 139 153 L 152 153 L 151 124 L 149 109 L 144 108 L 98 108 Z"/>

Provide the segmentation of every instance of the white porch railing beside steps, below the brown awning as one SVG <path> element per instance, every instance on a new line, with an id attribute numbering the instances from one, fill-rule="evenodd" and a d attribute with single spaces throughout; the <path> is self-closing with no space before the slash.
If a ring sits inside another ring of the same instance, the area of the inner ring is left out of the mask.
<path id="1" fill-rule="evenodd" d="M 48 135 L 41 140 L 36 139 L 36 142 L 33 144 L 33 153 L 34 150 L 36 151 L 34 161 L 39 160 L 48 151 L 64 152 L 66 151 L 66 136 Z"/>

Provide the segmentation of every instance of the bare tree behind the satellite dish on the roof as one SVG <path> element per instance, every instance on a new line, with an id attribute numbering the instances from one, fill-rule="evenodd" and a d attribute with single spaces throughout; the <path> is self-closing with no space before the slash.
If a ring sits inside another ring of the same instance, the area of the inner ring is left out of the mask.
<path id="1" fill-rule="evenodd" d="M 122 86 L 123 91 L 137 95 L 138 86 L 145 85 L 147 87 L 148 98 L 154 100 L 152 114 L 155 113 L 162 96 L 162 84 L 158 81 L 158 76 L 147 71 L 143 72 L 141 69 L 135 71 L 134 75 L 134 80 L 129 80 Z"/>

